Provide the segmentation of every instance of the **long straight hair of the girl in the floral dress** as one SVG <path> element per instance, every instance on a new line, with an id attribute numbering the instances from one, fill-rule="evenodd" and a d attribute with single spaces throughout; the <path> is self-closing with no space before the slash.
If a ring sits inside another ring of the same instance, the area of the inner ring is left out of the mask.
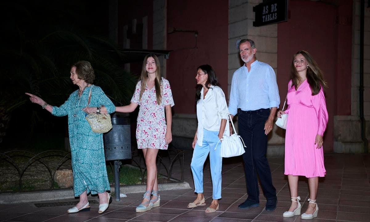
<path id="1" fill-rule="evenodd" d="M 145 91 L 145 87 L 147 86 L 148 73 L 147 73 L 146 65 L 147 65 L 147 60 L 149 57 L 154 58 L 155 66 L 157 68 L 157 70 L 155 71 L 154 86 L 155 86 L 155 95 L 157 97 L 157 104 L 159 105 L 162 102 L 161 65 L 159 65 L 159 59 L 157 55 L 154 55 L 154 54 L 148 54 L 147 56 L 145 56 L 144 62 L 142 63 L 141 76 L 140 76 L 141 90 L 140 90 L 139 101 L 141 100 L 141 96 Z"/>

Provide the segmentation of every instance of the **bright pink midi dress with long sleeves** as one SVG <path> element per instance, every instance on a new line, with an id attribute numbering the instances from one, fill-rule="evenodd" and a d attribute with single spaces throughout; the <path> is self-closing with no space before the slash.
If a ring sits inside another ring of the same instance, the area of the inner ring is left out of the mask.
<path id="1" fill-rule="evenodd" d="M 296 90 L 292 80 L 288 84 L 285 111 L 288 121 L 285 134 L 285 175 L 325 176 L 323 147 L 317 149 L 316 135 L 324 134 L 328 121 L 325 95 L 312 95 L 307 80 Z"/>

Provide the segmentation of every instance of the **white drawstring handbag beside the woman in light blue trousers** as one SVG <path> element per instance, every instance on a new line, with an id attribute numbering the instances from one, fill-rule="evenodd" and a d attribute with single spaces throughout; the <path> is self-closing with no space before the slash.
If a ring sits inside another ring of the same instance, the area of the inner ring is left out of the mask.
<path id="1" fill-rule="evenodd" d="M 221 157 L 236 157 L 236 156 L 240 156 L 243 153 L 245 153 L 244 147 L 246 146 L 244 144 L 244 141 L 236 133 L 235 127 L 234 127 L 234 124 L 232 122 L 230 115 L 229 115 L 229 118 L 230 118 L 231 125 L 235 133 L 232 134 L 231 136 L 224 136 L 218 141 L 217 145 L 219 144 L 220 141 L 222 141 L 221 142 Z M 217 149 L 217 145 L 216 145 L 215 150 Z"/>

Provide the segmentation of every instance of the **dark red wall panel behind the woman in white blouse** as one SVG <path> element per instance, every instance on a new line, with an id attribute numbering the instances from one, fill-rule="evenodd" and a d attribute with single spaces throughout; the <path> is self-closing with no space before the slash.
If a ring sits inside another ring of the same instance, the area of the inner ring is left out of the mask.
<path id="1" fill-rule="evenodd" d="M 195 113 L 196 68 L 210 64 L 228 98 L 228 1 L 167 1 L 167 27 L 198 30 L 167 35 L 167 74 L 175 101 L 175 113 Z M 185 48 L 185 49 L 184 49 Z M 192 49 L 189 49 L 192 48 Z"/>

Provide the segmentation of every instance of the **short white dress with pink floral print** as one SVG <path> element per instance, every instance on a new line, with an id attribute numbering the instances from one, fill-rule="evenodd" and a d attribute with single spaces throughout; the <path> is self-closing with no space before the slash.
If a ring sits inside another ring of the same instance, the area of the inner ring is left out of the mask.
<path id="1" fill-rule="evenodd" d="M 149 89 L 145 87 L 145 91 L 140 97 L 141 81 L 136 85 L 134 95 L 131 102 L 139 104 L 139 115 L 137 118 L 136 141 L 138 149 L 155 148 L 167 149 L 168 144 L 165 141 L 166 135 L 166 119 L 165 106 L 174 106 L 172 98 L 172 91 L 168 80 L 162 77 L 162 102 L 157 104 L 157 97 L 155 94 L 155 86 Z"/>

